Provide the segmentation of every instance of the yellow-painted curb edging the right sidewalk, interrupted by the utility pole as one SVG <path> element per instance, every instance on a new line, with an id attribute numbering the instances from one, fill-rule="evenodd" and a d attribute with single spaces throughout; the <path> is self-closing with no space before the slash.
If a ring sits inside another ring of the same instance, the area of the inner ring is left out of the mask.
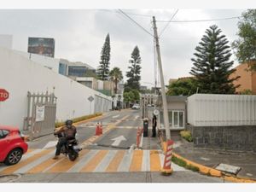
<path id="1" fill-rule="evenodd" d="M 160 137 L 160 143 L 161 143 L 163 153 L 166 154 L 166 142 L 163 141 L 162 137 Z M 208 167 L 208 166 L 203 166 L 203 165 L 198 164 L 194 161 L 187 160 L 179 154 L 172 153 L 172 155 L 181 159 L 181 160 L 184 160 L 187 163 L 187 165 L 198 167 L 199 172 L 201 172 L 204 175 L 212 176 L 212 177 L 223 177 L 224 180 L 234 182 L 234 183 L 256 183 L 256 179 L 254 180 L 254 179 L 246 178 L 246 177 L 226 176 L 225 172 L 221 172 L 221 171 L 218 171 L 217 169 L 214 169 L 214 168 L 211 168 L 211 167 Z"/>

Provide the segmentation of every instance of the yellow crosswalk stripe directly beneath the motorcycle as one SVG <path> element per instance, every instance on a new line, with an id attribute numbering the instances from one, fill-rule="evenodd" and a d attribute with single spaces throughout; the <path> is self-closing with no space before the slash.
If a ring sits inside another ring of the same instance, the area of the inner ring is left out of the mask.
<path id="1" fill-rule="evenodd" d="M 47 172 L 67 172 L 71 167 L 78 163 L 79 160 L 81 160 L 81 157 L 83 157 L 84 154 L 87 154 L 88 152 L 88 149 L 82 150 L 79 153 L 79 158 L 77 158 L 75 161 L 71 161 L 67 157 L 65 160 L 61 160 L 55 166 L 51 167 Z"/>

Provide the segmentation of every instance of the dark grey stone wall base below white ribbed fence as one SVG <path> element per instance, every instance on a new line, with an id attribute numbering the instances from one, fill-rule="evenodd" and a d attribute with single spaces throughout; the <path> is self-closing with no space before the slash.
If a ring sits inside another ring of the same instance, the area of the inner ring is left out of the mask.
<path id="1" fill-rule="evenodd" d="M 195 147 L 256 152 L 256 126 L 189 126 Z"/>

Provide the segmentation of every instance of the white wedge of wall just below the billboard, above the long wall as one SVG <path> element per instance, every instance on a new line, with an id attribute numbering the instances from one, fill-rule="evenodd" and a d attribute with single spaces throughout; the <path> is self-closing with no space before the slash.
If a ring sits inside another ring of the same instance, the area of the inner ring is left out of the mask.
<path id="1" fill-rule="evenodd" d="M 13 51 L 14 51 L 14 53 L 22 55 L 22 56 L 26 57 L 26 59 L 30 59 L 32 61 L 35 61 L 35 62 L 37 62 L 38 64 L 40 64 L 44 67 L 49 67 L 55 73 L 59 73 L 60 59 L 55 59 L 55 58 L 52 58 L 52 57 L 49 57 L 49 56 L 44 56 L 44 55 L 22 52 L 22 51 L 19 51 L 19 50 L 13 50 Z"/>

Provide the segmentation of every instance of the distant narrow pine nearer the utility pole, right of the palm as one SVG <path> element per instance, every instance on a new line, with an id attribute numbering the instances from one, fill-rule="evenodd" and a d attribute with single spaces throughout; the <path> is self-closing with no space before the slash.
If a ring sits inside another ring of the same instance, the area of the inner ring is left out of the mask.
<path id="1" fill-rule="evenodd" d="M 131 66 L 128 67 L 130 69 L 129 72 L 126 72 L 127 84 L 126 86 L 131 88 L 131 90 L 139 90 L 140 89 L 140 80 L 141 80 L 141 56 L 140 50 L 136 46 L 131 53 Z"/>

